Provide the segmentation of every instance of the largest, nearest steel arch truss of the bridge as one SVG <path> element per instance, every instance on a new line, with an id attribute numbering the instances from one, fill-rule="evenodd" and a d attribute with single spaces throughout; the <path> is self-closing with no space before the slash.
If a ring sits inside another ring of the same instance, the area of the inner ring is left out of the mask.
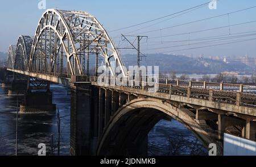
<path id="1" fill-rule="evenodd" d="M 32 43 L 29 72 L 69 77 L 85 74 L 85 55 L 104 57 L 105 65 L 114 74 L 125 68 L 105 28 L 94 16 L 82 11 L 47 10 L 39 20 Z"/>

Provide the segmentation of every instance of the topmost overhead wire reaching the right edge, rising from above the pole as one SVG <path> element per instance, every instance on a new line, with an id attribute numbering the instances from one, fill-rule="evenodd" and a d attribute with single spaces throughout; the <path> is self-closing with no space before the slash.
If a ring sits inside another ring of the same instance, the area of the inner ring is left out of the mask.
<path id="1" fill-rule="evenodd" d="M 199 19 L 199 20 L 195 20 L 195 21 L 193 21 L 193 22 L 188 22 L 188 23 L 183 23 L 183 24 L 177 24 L 177 25 L 171 26 L 171 27 L 159 28 L 159 29 L 156 29 L 156 30 L 151 30 L 151 31 L 146 31 L 146 32 L 139 32 L 139 33 L 140 33 L 140 34 L 146 34 L 146 33 L 148 33 L 148 32 L 162 31 L 162 30 L 166 30 L 166 29 L 169 29 L 169 28 L 184 26 L 184 25 L 191 24 L 191 23 L 201 22 L 201 21 L 208 20 L 208 19 L 213 19 L 213 18 L 218 18 L 218 17 L 221 17 L 221 16 L 229 15 L 229 14 L 234 14 L 234 13 L 236 13 L 236 12 L 241 12 L 241 11 L 253 9 L 253 8 L 255 8 L 255 7 L 256 7 L 256 6 L 248 7 L 248 8 L 246 8 L 246 9 L 236 10 L 236 11 L 229 12 L 229 13 L 226 13 L 226 14 L 221 14 L 221 15 L 217 15 L 217 16 L 212 16 L 212 17 L 204 18 L 204 19 Z M 136 34 L 133 34 L 133 35 L 136 35 Z"/>

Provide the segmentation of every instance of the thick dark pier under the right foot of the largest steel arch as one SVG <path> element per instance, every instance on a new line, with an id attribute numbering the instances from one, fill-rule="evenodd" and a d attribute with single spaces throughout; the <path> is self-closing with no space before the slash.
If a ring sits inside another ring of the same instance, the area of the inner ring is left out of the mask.
<path id="1" fill-rule="evenodd" d="M 71 89 L 71 155 L 91 155 L 92 88 L 90 83 L 75 83 Z"/>

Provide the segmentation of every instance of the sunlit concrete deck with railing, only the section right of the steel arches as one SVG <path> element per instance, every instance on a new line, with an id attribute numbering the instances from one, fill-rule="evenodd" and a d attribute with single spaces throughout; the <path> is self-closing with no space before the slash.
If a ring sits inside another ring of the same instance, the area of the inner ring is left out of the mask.
<path id="1" fill-rule="evenodd" d="M 111 82 L 111 81 L 109 81 Z M 220 84 L 220 83 L 218 83 Z M 159 83 L 156 92 L 148 91 L 145 86 L 117 86 L 114 84 L 104 84 L 97 82 L 97 77 L 92 78 L 92 85 L 123 91 L 127 94 L 144 95 L 145 97 L 158 98 L 168 101 L 181 102 L 196 106 L 235 112 L 256 116 L 256 94 L 241 93 L 239 91 L 224 91 L 204 89 L 192 86 L 176 86 L 171 83 Z M 140 83 L 140 85 L 142 85 Z"/>

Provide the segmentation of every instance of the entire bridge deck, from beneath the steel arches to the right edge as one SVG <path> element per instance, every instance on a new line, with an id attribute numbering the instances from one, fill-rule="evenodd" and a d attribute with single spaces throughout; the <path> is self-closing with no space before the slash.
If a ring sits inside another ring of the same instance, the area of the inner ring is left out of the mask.
<path id="1" fill-rule="evenodd" d="M 25 72 L 16 69 L 7 70 L 30 77 L 37 77 L 50 82 L 60 83 L 66 86 L 69 86 L 72 82 L 71 78 Z M 146 97 L 154 97 L 213 108 L 216 110 L 235 112 L 237 114 L 256 116 L 256 86 L 254 85 L 159 79 L 158 90 L 156 92 L 151 92 L 148 91 L 152 88 L 148 86 L 149 82 L 139 82 L 138 86 L 117 86 L 115 84 L 102 85 L 97 82 L 98 77 L 91 77 L 90 80 L 94 86 L 123 91 L 128 94 L 139 94 Z M 112 82 L 112 79 L 108 80 L 108 83 Z"/>

